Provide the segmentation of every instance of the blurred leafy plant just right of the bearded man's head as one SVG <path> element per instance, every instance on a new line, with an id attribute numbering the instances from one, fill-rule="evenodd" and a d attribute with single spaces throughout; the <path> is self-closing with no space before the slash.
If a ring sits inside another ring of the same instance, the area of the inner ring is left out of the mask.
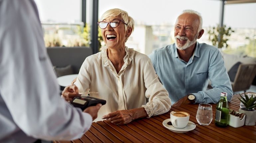
<path id="1" fill-rule="evenodd" d="M 228 37 L 231 35 L 231 33 L 234 32 L 234 30 L 231 29 L 231 27 L 226 27 L 226 25 L 220 27 L 217 25 L 216 27 L 209 28 L 208 34 L 209 34 L 209 41 L 212 42 L 212 45 L 217 48 L 227 48 L 227 41 Z M 218 42 L 218 36 L 220 34 L 220 42 Z"/>

